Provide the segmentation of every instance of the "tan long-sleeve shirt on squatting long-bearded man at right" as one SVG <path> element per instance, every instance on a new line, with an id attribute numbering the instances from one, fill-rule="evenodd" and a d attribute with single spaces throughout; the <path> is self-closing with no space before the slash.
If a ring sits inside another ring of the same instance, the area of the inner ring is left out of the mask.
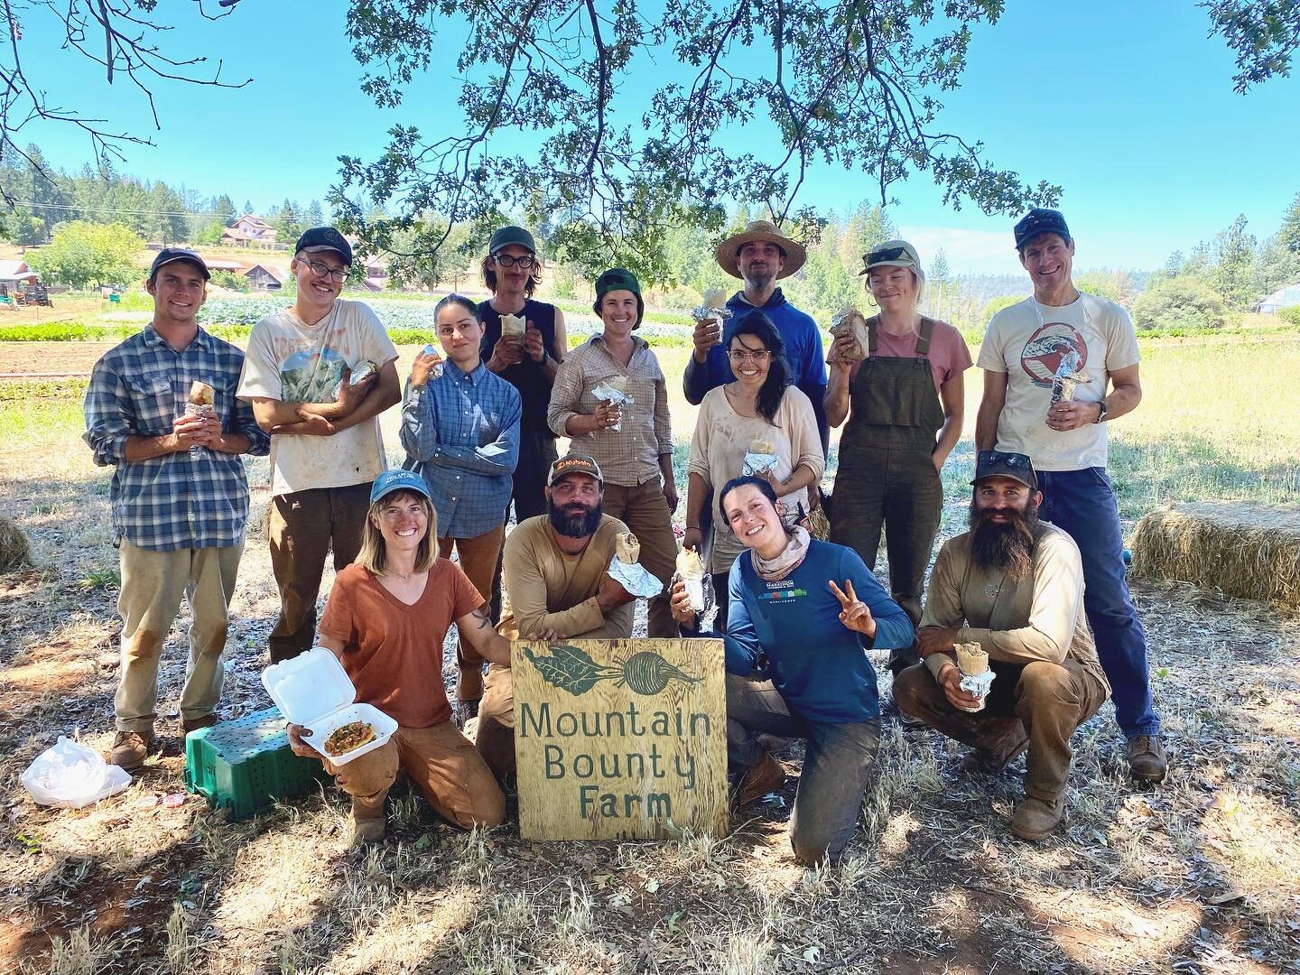
<path id="1" fill-rule="evenodd" d="M 970 532 L 939 550 L 920 625 L 957 629 L 956 642 L 979 644 L 991 660 L 1061 663 L 1067 656 L 1110 692 L 1083 611 L 1079 546 L 1054 525 L 1034 546 L 1034 569 L 1020 580 L 980 568 L 971 559 Z M 954 654 L 926 658 L 935 677 Z"/>

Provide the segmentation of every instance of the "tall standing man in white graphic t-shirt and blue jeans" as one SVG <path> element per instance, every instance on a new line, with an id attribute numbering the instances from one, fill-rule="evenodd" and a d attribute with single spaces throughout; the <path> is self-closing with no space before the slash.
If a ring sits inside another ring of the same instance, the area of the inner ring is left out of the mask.
<path id="1" fill-rule="evenodd" d="M 988 324 L 978 365 L 984 398 L 978 450 L 1028 454 L 1043 491 L 1041 517 L 1074 537 L 1083 556 L 1084 607 L 1110 681 L 1134 779 L 1165 777 L 1143 632 L 1124 581 L 1119 508 L 1106 477 L 1106 421 L 1138 408 L 1138 338 L 1114 302 L 1074 286 L 1074 239 L 1054 209 L 1015 225 L 1015 250 L 1034 296 Z M 1075 382 L 1053 403 L 1053 384 Z"/>

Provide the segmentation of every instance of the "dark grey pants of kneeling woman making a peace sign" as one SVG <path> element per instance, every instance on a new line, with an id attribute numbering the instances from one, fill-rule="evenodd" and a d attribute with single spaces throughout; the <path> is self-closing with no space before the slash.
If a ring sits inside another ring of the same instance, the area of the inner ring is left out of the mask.
<path id="1" fill-rule="evenodd" d="M 801 863 L 837 861 L 853 837 L 880 745 L 880 719 L 831 724 L 789 710 L 771 681 L 727 675 L 727 766 L 744 775 L 762 758 L 759 734 L 805 738 L 803 772 L 790 815 Z"/>

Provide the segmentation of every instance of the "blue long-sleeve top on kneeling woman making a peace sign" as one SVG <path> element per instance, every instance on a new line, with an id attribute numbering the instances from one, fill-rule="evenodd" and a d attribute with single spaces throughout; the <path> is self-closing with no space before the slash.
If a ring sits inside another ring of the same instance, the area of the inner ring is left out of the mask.
<path id="1" fill-rule="evenodd" d="M 845 580 L 853 581 L 876 620 L 875 640 L 840 623 L 842 607 L 831 580 L 841 589 Z M 907 614 L 853 549 L 812 540 L 800 567 L 779 582 L 764 581 L 746 552 L 732 563 L 728 588 L 728 671 L 764 673 L 785 703 L 810 722 L 880 716 L 876 672 L 866 651 L 910 646 L 914 633 Z M 767 658 L 766 671 L 759 670 L 760 656 Z"/>

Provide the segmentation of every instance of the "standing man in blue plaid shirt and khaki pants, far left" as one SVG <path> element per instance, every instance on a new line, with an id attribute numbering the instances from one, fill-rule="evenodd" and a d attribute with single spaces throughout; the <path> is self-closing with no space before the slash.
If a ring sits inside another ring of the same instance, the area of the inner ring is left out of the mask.
<path id="1" fill-rule="evenodd" d="M 209 277 L 192 251 L 160 251 L 146 286 L 153 321 L 95 364 L 86 390 L 84 439 L 96 464 L 114 468 L 122 666 L 109 760 L 129 771 L 153 748 L 159 659 L 182 597 L 194 623 L 181 728 L 217 720 L 226 614 L 248 517 L 239 455 L 270 448 L 252 408 L 235 399 L 243 354 L 195 320 Z M 207 416 L 187 415 L 194 382 L 212 387 Z"/>

